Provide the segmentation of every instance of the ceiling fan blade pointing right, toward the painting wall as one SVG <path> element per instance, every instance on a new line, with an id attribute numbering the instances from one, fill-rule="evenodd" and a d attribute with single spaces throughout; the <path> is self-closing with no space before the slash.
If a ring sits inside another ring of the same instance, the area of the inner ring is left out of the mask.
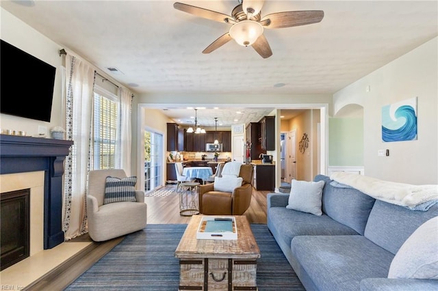
<path id="1" fill-rule="evenodd" d="M 266 28 L 283 28 L 319 23 L 322 18 L 322 10 L 285 11 L 268 14 L 261 18 L 260 23 Z"/>

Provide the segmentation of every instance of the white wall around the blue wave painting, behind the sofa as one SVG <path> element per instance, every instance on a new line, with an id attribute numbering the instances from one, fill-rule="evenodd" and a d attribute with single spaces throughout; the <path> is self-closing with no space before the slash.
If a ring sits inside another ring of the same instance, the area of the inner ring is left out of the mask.
<path id="1" fill-rule="evenodd" d="M 438 184 L 438 38 L 399 57 L 334 94 L 335 113 L 363 106 L 364 166 L 367 176 L 411 184 Z M 366 87 L 370 86 L 370 92 Z M 416 141 L 385 143 L 381 108 L 417 97 Z M 379 149 L 389 156 L 377 156 Z"/>

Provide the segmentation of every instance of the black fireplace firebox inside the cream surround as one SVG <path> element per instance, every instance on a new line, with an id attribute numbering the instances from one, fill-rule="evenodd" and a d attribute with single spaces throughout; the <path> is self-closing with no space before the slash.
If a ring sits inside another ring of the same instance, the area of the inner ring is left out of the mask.
<path id="1" fill-rule="evenodd" d="M 0 193 L 0 270 L 29 257 L 30 189 Z"/>

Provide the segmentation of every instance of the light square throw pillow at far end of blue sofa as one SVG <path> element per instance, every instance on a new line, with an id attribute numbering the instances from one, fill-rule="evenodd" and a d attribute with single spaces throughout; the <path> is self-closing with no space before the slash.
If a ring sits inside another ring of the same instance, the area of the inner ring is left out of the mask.
<path id="1" fill-rule="evenodd" d="M 322 189 L 324 181 L 307 182 L 292 180 L 287 209 L 322 215 Z"/>

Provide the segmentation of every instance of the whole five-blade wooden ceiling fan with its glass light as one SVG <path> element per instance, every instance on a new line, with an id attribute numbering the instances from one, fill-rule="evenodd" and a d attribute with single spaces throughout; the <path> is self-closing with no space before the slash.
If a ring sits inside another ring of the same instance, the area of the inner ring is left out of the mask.
<path id="1" fill-rule="evenodd" d="M 230 40 L 235 40 L 242 46 L 253 46 L 264 59 L 272 55 L 268 40 L 263 36 L 263 29 L 294 27 L 319 23 L 324 18 L 322 10 L 285 11 L 268 14 L 261 17 L 264 0 L 238 0 L 239 4 L 231 12 L 231 16 L 220 12 L 207 10 L 184 3 L 175 2 L 177 10 L 231 24 L 229 32 L 212 42 L 203 53 L 211 53 Z"/>

